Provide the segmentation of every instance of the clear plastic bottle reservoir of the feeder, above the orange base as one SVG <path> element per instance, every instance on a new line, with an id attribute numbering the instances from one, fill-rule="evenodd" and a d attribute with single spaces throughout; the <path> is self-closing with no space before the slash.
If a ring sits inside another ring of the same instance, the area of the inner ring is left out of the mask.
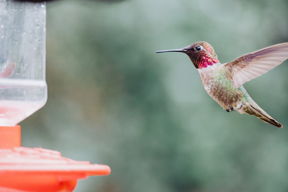
<path id="1" fill-rule="evenodd" d="M 0 0 L 0 126 L 45 105 L 45 46 L 45 3 Z"/>

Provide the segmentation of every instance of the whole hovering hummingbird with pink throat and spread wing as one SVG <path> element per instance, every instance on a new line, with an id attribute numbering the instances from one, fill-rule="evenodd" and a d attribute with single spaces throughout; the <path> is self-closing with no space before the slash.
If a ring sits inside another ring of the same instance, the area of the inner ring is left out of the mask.
<path id="1" fill-rule="evenodd" d="M 285 61 L 288 58 L 288 42 L 247 53 L 225 64 L 219 62 L 213 47 L 205 41 L 198 41 L 182 49 L 155 53 L 162 52 L 186 53 L 200 73 L 205 91 L 227 112 L 238 111 L 240 114 L 253 115 L 265 123 L 283 128 L 282 124 L 253 101 L 242 84 Z"/>

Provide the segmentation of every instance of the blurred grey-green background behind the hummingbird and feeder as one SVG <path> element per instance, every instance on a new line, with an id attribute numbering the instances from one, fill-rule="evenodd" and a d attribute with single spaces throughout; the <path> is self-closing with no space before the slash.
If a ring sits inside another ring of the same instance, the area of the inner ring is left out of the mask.
<path id="1" fill-rule="evenodd" d="M 76 192 L 288 191 L 288 62 L 244 84 L 283 129 L 227 113 L 176 49 L 207 41 L 221 63 L 288 41 L 288 1 L 47 3 L 47 104 L 22 146 L 111 167 Z"/>

